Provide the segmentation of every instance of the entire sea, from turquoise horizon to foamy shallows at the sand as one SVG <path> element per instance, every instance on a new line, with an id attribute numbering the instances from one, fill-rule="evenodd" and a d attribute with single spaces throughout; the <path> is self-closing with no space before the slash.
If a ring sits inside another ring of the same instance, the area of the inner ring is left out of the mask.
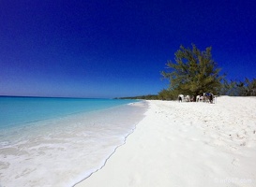
<path id="1" fill-rule="evenodd" d="M 0 186 L 74 186 L 143 119 L 143 101 L 0 97 Z"/>

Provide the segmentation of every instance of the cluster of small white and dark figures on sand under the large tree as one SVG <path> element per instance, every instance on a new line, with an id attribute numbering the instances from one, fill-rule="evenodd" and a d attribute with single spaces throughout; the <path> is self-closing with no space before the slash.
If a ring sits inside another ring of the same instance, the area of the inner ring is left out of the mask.
<path id="1" fill-rule="evenodd" d="M 178 95 L 178 101 L 179 102 L 208 102 L 208 103 L 214 103 L 214 94 L 212 93 L 203 93 L 203 95 L 197 95 L 196 100 L 194 99 L 194 96 L 190 97 L 189 95 L 184 96 L 184 94 L 179 94 Z"/>

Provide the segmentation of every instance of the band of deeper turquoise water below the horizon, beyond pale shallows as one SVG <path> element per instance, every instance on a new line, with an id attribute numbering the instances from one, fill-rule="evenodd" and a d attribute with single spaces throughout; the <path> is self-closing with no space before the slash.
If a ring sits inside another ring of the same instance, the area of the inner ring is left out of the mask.
<path id="1" fill-rule="evenodd" d="M 131 102 L 136 100 L 0 97 L 0 129 Z"/>

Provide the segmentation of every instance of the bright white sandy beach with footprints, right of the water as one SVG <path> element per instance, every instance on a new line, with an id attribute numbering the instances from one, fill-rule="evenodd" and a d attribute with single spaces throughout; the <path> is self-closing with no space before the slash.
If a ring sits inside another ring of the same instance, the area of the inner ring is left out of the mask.
<path id="1" fill-rule="evenodd" d="M 76 187 L 256 186 L 256 97 L 148 102 L 126 144 Z"/>

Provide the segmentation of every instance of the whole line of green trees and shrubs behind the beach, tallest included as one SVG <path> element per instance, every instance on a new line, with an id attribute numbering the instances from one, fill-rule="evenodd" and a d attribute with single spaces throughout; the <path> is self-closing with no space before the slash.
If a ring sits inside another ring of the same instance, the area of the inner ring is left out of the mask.
<path id="1" fill-rule="evenodd" d="M 256 96 L 256 79 L 244 81 L 227 80 L 225 74 L 220 74 L 221 68 L 213 60 L 211 47 L 199 50 L 194 44 L 192 48 L 182 45 L 174 53 L 174 62 L 168 61 L 166 71 L 162 71 L 163 79 L 170 81 L 169 88 L 158 94 L 149 94 L 125 99 L 161 99 L 176 100 L 178 94 L 197 95 L 212 93 L 232 96 Z"/>

